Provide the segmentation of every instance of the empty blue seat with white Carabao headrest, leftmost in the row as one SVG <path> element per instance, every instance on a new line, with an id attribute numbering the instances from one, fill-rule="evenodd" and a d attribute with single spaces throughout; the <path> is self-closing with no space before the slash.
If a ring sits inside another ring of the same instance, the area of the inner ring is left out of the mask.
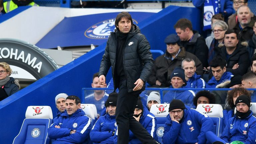
<path id="1" fill-rule="evenodd" d="M 19 134 L 13 144 L 50 144 L 48 128 L 52 123 L 52 109 L 49 106 L 28 106 Z"/>

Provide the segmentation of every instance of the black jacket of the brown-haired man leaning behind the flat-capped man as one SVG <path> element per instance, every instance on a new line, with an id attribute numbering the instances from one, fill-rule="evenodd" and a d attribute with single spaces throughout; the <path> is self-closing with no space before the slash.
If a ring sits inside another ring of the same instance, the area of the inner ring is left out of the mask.
<path id="1" fill-rule="evenodd" d="M 181 41 L 181 45 L 186 52 L 194 54 L 203 64 L 203 67 L 208 67 L 208 47 L 202 37 L 197 31 L 193 31 L 194 36 L 189 41 Z"/>

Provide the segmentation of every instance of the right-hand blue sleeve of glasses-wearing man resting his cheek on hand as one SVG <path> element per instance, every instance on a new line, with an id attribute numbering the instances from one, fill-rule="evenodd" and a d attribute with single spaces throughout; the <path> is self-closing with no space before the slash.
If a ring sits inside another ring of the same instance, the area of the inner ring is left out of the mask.
<path id="1" fill-rule="evenodd" d="M 205 133 L 207 131 L 212 131 L 213 122 L 207 115 L 203 115 L 196 110 L 194 111 L 194 113 L 195 113 L 194 116 L 197 118 L 197 121 L 202 125 L 200 134 L 197 137 L 198 144 L 205 144 L 206 143 Z"/>

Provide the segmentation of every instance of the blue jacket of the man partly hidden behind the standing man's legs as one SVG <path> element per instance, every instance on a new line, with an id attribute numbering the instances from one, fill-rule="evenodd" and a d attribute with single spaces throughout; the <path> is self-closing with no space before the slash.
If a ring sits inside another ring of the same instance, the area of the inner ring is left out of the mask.
<path id="1" fill-rule="evenodd" d="M 140 117 L 139 122 L 148 131 L 148 133 L 158 141 L 156 135 L 157 122 L 155 116 L 148 111 L 148 108 L 143 105 L 143 115 Z M 117 144 L 117 135 L 114 136 L 114 144 Z M 142 144 L 139 139 L 129 130 L 129 144 Z"/>

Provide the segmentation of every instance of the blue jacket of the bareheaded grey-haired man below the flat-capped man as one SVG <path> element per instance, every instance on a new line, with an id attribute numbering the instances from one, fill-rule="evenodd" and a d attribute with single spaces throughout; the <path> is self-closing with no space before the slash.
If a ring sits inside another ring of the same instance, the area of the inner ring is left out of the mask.
<path id="1" fill-rule="evenodd" d="M 205 84 L 206 82 L 196 73 L 187 81 L 187 86 L 191 88 L 205 88 Z"/>

